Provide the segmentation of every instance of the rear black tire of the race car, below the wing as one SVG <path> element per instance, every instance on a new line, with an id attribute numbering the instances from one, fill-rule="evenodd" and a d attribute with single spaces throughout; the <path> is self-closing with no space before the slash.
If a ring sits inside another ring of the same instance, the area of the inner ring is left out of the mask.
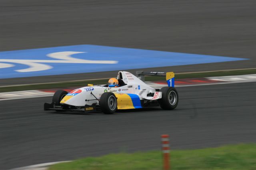
<path id="1" fill-rule="evenodd" d="M 160 99 L 160 107 L 165 110 L 175 109 L 179 102 L 179 96 L 176 88 L 163 87 L 160 89 L 162 98 Z"/>

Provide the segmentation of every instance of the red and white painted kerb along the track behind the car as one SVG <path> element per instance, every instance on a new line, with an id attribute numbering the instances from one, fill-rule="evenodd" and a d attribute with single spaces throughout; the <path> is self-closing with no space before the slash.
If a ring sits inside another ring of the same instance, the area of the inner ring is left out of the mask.
<path id="1" fill-rule="evenodd" d="M 204 85 L 212 85 L 212 84 L 230 84 L 230 83 L 243 83 L 243 82 L 256 82 L 256 74 L 179 79 L 175 81 L 175 87 L 204 86 Z M 146 82 L 146 83 L 153 88 L 162 88 L 164 86 L 167 86 L 165 81 Z M 71 90 L 74 90 L 74 89 L 75 88 L 66 88 L 63 90 L 70 92 Z M 0 101 L 53 96 L 56 90 L 57 89 L 3 92 L 3 93 L 0 93 Z"/>

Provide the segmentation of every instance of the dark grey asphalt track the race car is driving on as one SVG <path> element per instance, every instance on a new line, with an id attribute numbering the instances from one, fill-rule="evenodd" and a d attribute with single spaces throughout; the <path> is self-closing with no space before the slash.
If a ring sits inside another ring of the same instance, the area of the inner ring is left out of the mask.
<path id="1" fill-rule="evenodd" d="M 0 169 L 113 152 L 256 142 L 256 82 L 177 88 L 176 110 L 70 114 L 42 111 L 51 97 L 0 102 Z"/>

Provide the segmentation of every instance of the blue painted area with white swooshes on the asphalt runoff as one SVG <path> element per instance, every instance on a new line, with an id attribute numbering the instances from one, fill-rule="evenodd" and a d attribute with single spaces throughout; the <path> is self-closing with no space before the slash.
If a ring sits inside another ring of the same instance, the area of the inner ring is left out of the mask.
<path id="1" fill-rule="evenodd" d="M 128 70 L 240 60 L 246 59 L 98 45 L 73 45 L 0 52 L 0 78 Z"/>

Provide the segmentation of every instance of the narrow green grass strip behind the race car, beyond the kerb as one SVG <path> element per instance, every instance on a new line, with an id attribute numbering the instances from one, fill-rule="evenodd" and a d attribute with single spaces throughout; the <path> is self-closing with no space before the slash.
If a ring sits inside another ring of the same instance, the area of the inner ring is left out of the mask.
<path id="1" fill-rule="evenodd" d="M 175 79 L 184 78 L 202 78 L 202 77 L 214 77 L 214 76 L 236 76 L 244 74 L 256 74 L 256 69 L 245 69 L 245 70 L 228 70 L 228 71 L 214 71 L 214 72 L 195 72 L 195 73 L 178 73 L 175 74 Z M 158 81 L 165 80 L 164 76 L 146 76 L 145 81 Z M 67 81 L 67 82 L 56 82 L 56 83 L 45 83 L 45 84 L 28 84 L 21 86 L 8 86 L 0 87 L 0 92 L 14 92 L 23 90 L 40 90 L 50 88 L 67 88 L 67 87 L 79 87 L 86 86 L 87 84 L 106 84 L 108 79 L 104 80 L 78 80 L 78 81 Z"/>

